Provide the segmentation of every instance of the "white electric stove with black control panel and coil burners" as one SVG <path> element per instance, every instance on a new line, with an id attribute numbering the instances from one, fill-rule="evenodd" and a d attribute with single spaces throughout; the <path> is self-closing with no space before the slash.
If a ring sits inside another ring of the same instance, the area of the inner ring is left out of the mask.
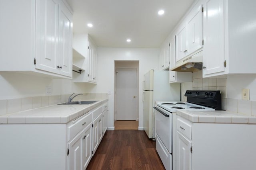
<path id="1" fill-rule="evenodd" d="M 193 91 L 187 90 L 187 102 L 156 102 L 155 127 L 156 150 L 166 170 L 175 170 L 173 164 L 173 145 L 175 143 L 177 110 L 187 111 L 214 111 L 221 108 L 220 91 Z"/>

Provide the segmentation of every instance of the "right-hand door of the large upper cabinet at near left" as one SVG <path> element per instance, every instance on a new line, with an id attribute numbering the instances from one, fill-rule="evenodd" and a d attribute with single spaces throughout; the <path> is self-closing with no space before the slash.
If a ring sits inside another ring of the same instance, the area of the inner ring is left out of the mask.
<path id="1" fill-rule="evenodd" d="M 65 4 L 60 3 L 59 10 L 59 56 L 60 74 L 72 75 L 72 14 Z"/>

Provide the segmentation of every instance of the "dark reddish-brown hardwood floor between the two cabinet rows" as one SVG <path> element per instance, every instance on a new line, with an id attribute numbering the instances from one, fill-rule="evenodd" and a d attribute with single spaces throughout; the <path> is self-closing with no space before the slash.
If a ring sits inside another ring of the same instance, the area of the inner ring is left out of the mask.
<path id="1" fill-rule="evenodd" d="M 86 170 L 164 170 L 144 131 L 106 131 Z"/>

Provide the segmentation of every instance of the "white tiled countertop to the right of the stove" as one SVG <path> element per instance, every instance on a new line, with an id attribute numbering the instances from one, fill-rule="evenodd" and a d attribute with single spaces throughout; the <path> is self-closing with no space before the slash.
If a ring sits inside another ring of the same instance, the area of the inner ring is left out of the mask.
<path id="1" fill-rule="evenodd" d="M 177 115 L 195 123 L 248 123 L 256 124 L 256 116 L 242 115 L 229 111 L 177 111 Z"/>

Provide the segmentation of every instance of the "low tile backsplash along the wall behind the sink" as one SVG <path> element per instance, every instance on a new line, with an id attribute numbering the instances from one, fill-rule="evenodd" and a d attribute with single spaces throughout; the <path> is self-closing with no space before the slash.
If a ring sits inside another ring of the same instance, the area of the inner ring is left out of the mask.
<path id="1" fill-rule="evenodd" d="M 0 115 L 64 103 L 68 101 L 69 96 L 69 94 L 66 94 L 0 100 Z M 101 100 L 106 98 L 108 98 L 108 94 L 105 93 L 84 93 L 74 100 Z"/>

